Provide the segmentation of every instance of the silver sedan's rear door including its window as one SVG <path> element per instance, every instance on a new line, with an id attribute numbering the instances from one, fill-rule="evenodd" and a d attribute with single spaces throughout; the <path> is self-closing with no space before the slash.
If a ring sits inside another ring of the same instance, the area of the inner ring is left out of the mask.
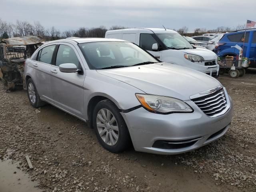
<path id="1" fill-rule="evenodd" d="M 52 56 L 56 44 L 49 44 L 38 51 L 35 60 L 32 60 L 30 66 L 34 69 L 32 79 L 40 98 L 53 103 L 52 92 L 50 89 L 50 70 L 52 66 Z"/>

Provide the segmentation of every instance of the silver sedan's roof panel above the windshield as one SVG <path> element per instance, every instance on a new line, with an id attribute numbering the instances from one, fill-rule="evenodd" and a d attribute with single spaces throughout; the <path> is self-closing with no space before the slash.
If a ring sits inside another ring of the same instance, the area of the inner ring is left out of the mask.
<path id="1" fill-rule="evenodd" d="M 76 42 L 78 44 L 80 43 L 90 43 L 90 42 L 111 42 L 111 41 L 119 41 L 119 42 L 128 42 L 125 40 L 120 39 L 112 39 L 112 38 L 79 38 L 79 37 L 68 37 L 66 39 L 59 39 L 55 41 L 50 41 L 47 43 L 54 43 L 54 42 Z M 47 44 L 46 43 L 46 44 Z"/>

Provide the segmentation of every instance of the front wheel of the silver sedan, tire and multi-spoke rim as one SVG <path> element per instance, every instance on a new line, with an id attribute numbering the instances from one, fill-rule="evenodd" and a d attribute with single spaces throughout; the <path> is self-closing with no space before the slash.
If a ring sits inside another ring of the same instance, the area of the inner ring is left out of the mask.
<path id="1" fill-rule="evenodd" d="M 112 101 L 107 99 L 96 104 L 92 122 L 98 141 L 106 150 L 118 153 L 130 147 L 128 128 L 119 109 Z"/>

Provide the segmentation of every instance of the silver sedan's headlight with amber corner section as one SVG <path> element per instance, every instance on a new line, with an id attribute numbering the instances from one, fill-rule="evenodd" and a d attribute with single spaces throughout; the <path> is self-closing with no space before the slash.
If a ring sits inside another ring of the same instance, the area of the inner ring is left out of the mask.
<path id="1" fill-rule="evenodd" d="M 136 94 L 136 97 L 144 108 L 154 113 L 169 114 L 193 111 L 188 104 L 172 97 L 149 94 Z"/>

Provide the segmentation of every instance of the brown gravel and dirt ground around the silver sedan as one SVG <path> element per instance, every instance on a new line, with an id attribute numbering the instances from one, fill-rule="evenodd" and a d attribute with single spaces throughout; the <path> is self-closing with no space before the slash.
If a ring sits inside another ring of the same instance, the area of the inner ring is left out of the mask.
<path id="1" fill-rule="evenodd" d="M 25 91 L 6 93 L 0 82 L 0 158 L 19 162 L 38 188 L 50 192 L 256 192 L 256 71 L 248 73 L 218 78 L 234 101 L 227 134 L 175 156 L 133 149 L 112 154 L 86 123 L 50 105 L 32 108 Z"/>

